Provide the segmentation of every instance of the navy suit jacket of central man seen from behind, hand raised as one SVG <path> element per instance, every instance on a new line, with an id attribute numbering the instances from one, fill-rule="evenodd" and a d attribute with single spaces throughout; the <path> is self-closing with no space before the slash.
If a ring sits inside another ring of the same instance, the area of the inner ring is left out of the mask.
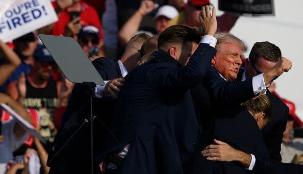
<path id="1" fill-rule="evenodd" d="M 200 133 L 188 89 L 203 79 L 215 53 L 201 43 L 182 67 L 161 50 L 133 69 L 118 94 L 111 127 L 115 138 L 108 138 L 108 150 L 97 160 L 130 143 L 121 173 L 183 173 L 182 163 Z"/>

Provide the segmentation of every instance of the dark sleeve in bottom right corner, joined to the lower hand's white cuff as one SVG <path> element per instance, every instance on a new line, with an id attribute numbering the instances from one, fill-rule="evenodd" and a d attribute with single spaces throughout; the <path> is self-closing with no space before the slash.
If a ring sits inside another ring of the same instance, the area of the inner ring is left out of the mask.
<path id="1" fill-rule="evenodd" d="M 301 174 L 303 173 L 303 166 L 293 163 L 283 163 L 278 160 L 256 160 L 255 167 L 253 169 L 255 173 L 267 173 L 267 174 Z"/>

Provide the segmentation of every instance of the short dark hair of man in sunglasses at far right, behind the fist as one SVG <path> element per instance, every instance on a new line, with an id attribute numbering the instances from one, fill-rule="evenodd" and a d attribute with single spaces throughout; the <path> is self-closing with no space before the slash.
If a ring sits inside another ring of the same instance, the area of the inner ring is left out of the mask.
<path id="1" fill-rule="evenodd" d="M 258 62 L 259 57 L 270 62 L 277 62 L 281 59 L 282 54 L 280 48 L 273 43 L 268 41 L 256 42 L 249 53 L 249 60 L 255 65 Z"/>

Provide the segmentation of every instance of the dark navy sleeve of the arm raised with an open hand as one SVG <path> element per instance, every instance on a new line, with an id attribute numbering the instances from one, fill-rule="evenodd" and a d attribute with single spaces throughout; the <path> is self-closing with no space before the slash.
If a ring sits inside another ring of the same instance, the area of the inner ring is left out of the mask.
<path id="1" fill-rule="evenodd" d="M 216 49 L 209 44 L 200 43 L 186 66 L 176 67 L 166 63 L 147 72 L 147 78 L 154 88 L 163 86 L 183 86 L 190 88 L 203 79 Z"/>

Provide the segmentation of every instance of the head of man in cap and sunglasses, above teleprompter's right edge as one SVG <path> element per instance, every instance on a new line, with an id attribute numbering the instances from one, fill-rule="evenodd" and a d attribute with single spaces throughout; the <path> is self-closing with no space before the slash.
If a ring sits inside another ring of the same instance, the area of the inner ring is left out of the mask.
<path id="1" fill-rule="evenodd" d="M 98 58 L 100 52 L 99 30 L 94 26 L 85 26 L 78 34 L 78 42 L 91 61 Z"/>

